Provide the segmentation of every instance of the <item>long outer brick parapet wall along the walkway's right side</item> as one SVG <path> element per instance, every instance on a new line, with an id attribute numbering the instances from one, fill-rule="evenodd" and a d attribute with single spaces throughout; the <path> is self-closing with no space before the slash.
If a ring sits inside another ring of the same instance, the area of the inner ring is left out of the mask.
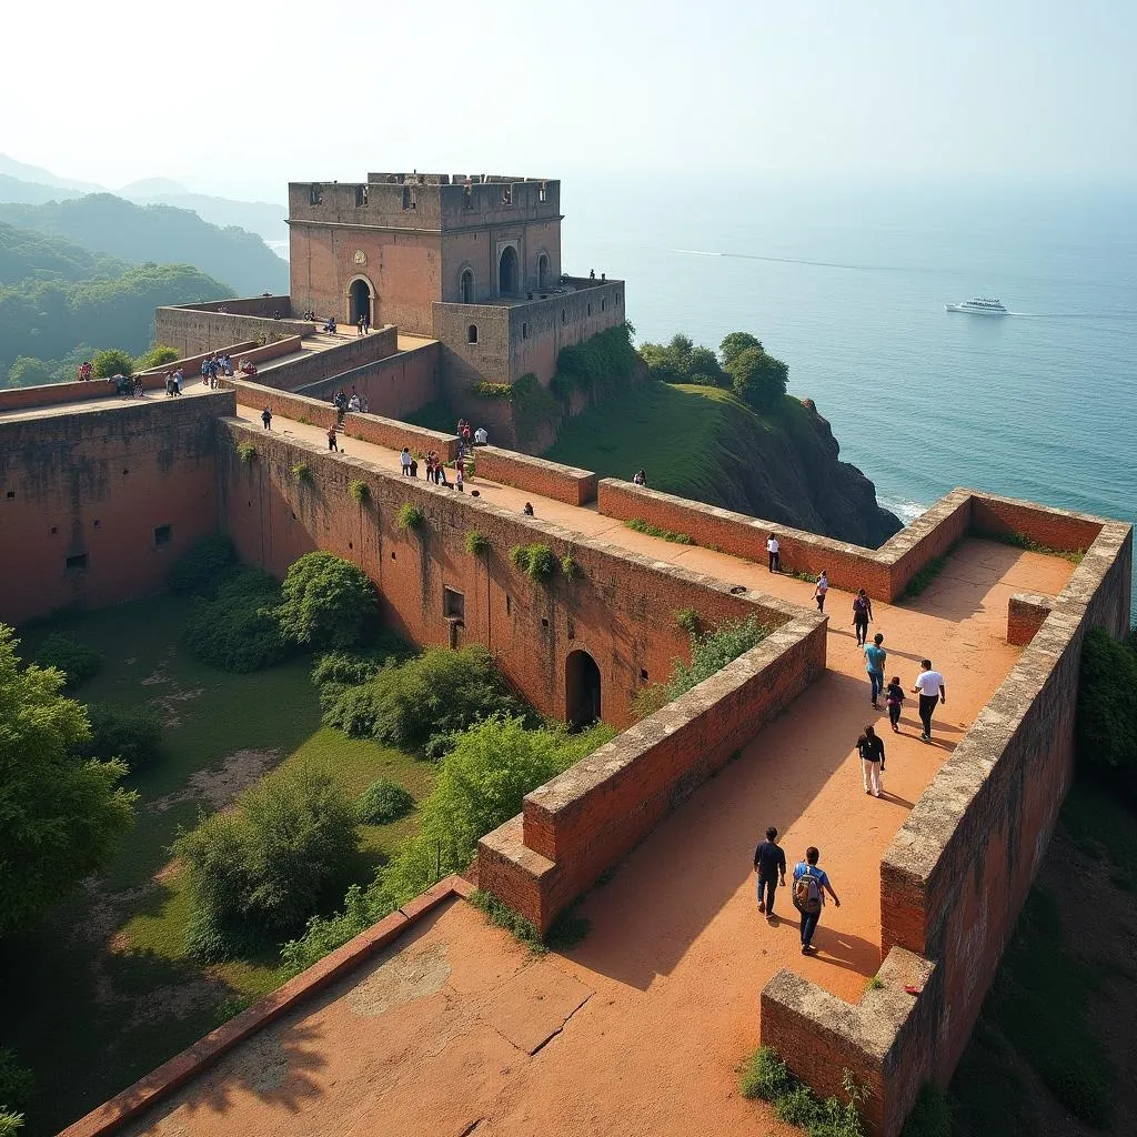
<path id="1" fill-rule="evenodd" d="M 822 1094 L 838 1093 L 852 1070 L 872 1089 L 868 1120 L 885 1137 L 901 1131 L 923 1081 L 951 1079 L 1030 890 L 1073 777 L 1085 633 L 1103 626 L 1122 636 L 1129 626 L 1129 525 L 964 492 L 980 531 L 1056 549 L 1094 536 L 881 863 L 885 968 L 924 964 L 924 978 L 912 981 L 913 1013 L 889 1036 L 869 995 L 853 1007 L 785 971 L 762 995 L 763 1043 Z"/>

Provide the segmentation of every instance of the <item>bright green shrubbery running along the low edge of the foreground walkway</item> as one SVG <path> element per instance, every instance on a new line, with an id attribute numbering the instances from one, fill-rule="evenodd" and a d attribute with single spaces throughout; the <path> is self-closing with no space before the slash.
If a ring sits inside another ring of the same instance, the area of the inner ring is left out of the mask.
<path id="1" fill-rule="evenodd" d="M 465 869 L 487 832 L 514 816 L 530 790 L 586 757 L 615 735 L 611 727 L 570 735 L 564 727 L 526 730 L 517 716 L 499 715 L 456 739 L 433 791 L 420 803 L 418 833 L 366 889 L 352 887 L 333 916 L 308 921 L 305 933 L 281 953 L 290 971 L 327 952 L 437 883 Z"/>

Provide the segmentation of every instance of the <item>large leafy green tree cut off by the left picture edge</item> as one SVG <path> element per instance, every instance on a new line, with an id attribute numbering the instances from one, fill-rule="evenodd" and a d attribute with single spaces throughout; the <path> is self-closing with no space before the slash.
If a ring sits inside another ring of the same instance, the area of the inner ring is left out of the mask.
<path id="1" fill-rule="evenodd" d="M 0 935 L 41 916 L 101 869 L 133 822 L 122 762 L 74 756 L 86 711 L 64 698 L 61 672 L 20 670 L 0 624 Z"/>

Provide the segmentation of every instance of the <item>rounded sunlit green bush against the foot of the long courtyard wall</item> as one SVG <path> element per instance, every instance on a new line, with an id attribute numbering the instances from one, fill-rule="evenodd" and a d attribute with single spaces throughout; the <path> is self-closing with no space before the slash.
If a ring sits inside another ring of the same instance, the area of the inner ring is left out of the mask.
<path id="1" fill-rule="evenodd" d="M 352 647 L 379 615 L 379 594 L 371 578 L 333 553 L 306 553 L 293 561 L 281 597 L 281 636 L 302 647 Z"/>

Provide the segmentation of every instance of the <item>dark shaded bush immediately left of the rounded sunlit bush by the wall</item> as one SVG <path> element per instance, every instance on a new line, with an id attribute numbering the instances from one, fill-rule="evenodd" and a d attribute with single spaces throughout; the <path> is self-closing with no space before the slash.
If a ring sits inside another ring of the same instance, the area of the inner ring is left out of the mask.
<path id="1" fill-rule="evenodd" d="M 276 619 L 280 586 L 257 568 L 232 573 L 215 600 L 199 599 L 182 625 L 182 642 L 196 659 L 244 674 L 280 663 L 289 647 Z"/>

